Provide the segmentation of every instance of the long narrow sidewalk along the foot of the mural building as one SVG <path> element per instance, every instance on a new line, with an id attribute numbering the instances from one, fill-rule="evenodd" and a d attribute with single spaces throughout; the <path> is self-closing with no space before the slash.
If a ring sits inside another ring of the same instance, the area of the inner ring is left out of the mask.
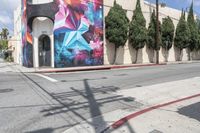
<path id="1" fill-rule="evenodd" d="M 1 59 L 2 60 L 2 59 Z M 189 63 L 200 63 L 200 61 L 181 61 L 181 62 L 161 62 L 159 65 L 155 63 L 144 63 L 144 64 L 125 64 L 125 65 L 102 65 L 102 66 L 83 66 L 83 67 L 68 67 L 68 68 L 26 68 L 13 62 L 4 62 L 10 68 L 10 71 L 24 72 L 24 73 L 59 73 L 59 72 L 76 72 L 76 71 L 95 71 L 95 70 L 110 70 L 110 69 L 122 69 L 122 68 L 134 68 L 134 67 L 145 67 L 145 66 L 160 66 L 170 64 L 189 64 Z"/>

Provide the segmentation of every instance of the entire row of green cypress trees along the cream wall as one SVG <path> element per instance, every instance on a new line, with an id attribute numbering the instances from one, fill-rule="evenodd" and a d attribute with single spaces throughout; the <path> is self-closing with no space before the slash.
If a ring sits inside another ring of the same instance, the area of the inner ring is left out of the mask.
<path id="1" fill-rule="evenodd" d="M 187 21 L 185 12 L 182 11 L 176 31 L 173 21 L 169 16 L 163 19 L 162 24 L 159 22 L 159 45 L 156 45 L 155 11 L 151 15 L 147 29 L 140 0 L 137 0 L 131 22 L 129 22 L 126 16 L 126 11 L 115 0 L 114 6 L 105 18 L 105 23 L 106 39 L 115 44 L 113 63 L 115 63 L 117 48 L 124 46 L 127 40 L 129 40 L 131 46 L 136 50 L 136 60 L 133 63 L 137 63 L 138 50 L 144 48 L 145 44 L 152 50 L 160 50 L 160 47 L 163 47 L 168 51 L 174 43 L 174 46 L 180 50 L 178 61 L 181 60 L 181 53 L 184 48 L 188 49 L 188 60 L 191 59 L 190 53 L 192 51 L 200 49 L 200 23 L 198 25 L 194 19 L 193 3 L 191 4 Z"/>

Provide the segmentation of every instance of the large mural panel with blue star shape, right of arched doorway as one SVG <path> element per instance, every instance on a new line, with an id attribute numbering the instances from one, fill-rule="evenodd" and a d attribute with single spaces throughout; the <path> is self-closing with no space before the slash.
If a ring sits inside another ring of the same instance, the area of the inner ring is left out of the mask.
<path id="1" fill-rule="evenodd" d="M 103 64 L 103 1 L 57 0 L 55 67 Z"/>

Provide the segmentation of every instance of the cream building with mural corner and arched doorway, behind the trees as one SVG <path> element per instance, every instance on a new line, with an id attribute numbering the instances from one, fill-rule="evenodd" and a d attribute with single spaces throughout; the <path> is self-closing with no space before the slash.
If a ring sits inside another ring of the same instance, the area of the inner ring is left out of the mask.
<path id="1" fill-rule="evenodd" d="M 131 20 L 136 0 L 116 0 Z M 26 67 L 74 67 L 107 65 L 113 62 L 114 45 L 105 39 L 104 18 L 114 0 L 22 0 L 14 12 L 15 62 Z M 128 3 L 128 4 L 127 4 Z M 141 0 L 147 27 L 155 5 Z M 160 6 L 159 18 L 170 16 L 176 26 L 181 11 Z M 131 64 L 135 50 L 127 43 L 117 50 L 116 64 Z M 180 52 L 160 50 L 160 62 L 176 61 Z M 155 61 L 147 47 L 139 51 L 138 63 Z M 182 59 L 187 60 L 187 50 Z M 198 52 L 193 59 L 199 59 Z"/>

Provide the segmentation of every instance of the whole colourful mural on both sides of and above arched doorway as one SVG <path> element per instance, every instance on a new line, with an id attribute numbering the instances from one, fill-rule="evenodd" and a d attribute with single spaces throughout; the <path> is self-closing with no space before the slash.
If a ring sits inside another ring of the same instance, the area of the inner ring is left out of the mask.
<path id="1" fill-rule="evenodd" d="M 54 0 L 32 4 L 22 0 L 23 65 L 33 67 L 32 22 L 54 21 L 55 67 L 103 64 L 103 0 Z"/>

